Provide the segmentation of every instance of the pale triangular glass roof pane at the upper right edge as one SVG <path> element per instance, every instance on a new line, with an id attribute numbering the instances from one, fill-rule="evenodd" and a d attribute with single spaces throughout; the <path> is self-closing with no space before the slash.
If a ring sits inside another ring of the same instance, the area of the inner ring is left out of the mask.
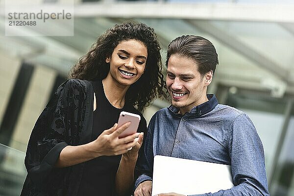
<path id="1" fill-rule="evenodd" d="M 212 21 L 250 49 L 270 59 L 283 68 L 292 66 L 294 36 L 291 31 L 277 23 Z"/>

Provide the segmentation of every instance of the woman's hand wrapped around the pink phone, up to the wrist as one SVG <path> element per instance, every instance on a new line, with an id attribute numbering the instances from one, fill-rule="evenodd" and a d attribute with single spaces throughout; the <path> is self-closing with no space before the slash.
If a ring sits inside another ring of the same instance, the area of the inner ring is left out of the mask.
<path id="1" fill-rule="evenodd" d="M 140 133 L 134 133 L 124 138 L 119 138 L 119 135 L 123 133 L 129 125 L 130 122 L 124 123 L 118 128 L 118 124 L 115 123 L 113 127 L 104 130 L 95 141 L 89 143 L 89 147 L 95 154 L 95 157 L 119 155 L 128 152 L 128 149 L 132 148 L 134 148 L 134 151 L 137 150 L 136 153 L 138 154 L 142 141 L 139 144 L 140 139 L 135 140 L 135 138 L 137 138 Z M 141 138 L 143 137 L 141 136 Z M 132 155 L 132 153 L 130 154 Z"/>

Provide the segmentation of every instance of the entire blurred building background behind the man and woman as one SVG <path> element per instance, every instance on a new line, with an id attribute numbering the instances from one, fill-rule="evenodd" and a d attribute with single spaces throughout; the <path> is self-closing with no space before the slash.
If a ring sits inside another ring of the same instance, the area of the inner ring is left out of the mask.
<path id="1" fill-rule="evenodd" d="M 0 196 L 19 195 L 32 127 L 71 67 L 107 28 L 127 20 L 155 29 L 164 63 L 178 36 L 200 35 L 215 45 L 220 64 L 208 92 L 252 119 L 265 149 L 271 196 L 294 196 L 293 0 L 30 1 L 72 2 L 73 26 L 60 25 L 73 36 L 43 36 L 54 25 L 34 36 L 5 36 L 0 0 Z M 144 116 L 149 121 L 168 105 L 157 99 Z"/>

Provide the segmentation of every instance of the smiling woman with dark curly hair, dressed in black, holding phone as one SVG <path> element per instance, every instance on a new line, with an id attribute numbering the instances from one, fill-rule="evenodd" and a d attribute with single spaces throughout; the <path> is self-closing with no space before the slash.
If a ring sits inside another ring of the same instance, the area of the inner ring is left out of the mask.
<path id="1" fill-rule="evenodd" d="M 165 95 L 160 46 L 144 24 L 115 25 L 73 67 L 37 120 L 21 196 L 128 195 L 147 123 L 139 111 Z M 141 116 L 119 135 L 121 111 Z"/>

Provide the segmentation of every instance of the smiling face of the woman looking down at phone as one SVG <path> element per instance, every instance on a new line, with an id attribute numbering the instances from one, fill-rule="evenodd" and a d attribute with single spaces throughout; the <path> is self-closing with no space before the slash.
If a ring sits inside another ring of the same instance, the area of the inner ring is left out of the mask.
<path id="1" fill-rule="evenodd" d="M 137 40 L 126 40 L 117 45 L 110 57 L 105 59 L 110 64 L 107 77 L 121 85 L 135 83 L 144 73 L 147 61 L 147 48 Z"/>

